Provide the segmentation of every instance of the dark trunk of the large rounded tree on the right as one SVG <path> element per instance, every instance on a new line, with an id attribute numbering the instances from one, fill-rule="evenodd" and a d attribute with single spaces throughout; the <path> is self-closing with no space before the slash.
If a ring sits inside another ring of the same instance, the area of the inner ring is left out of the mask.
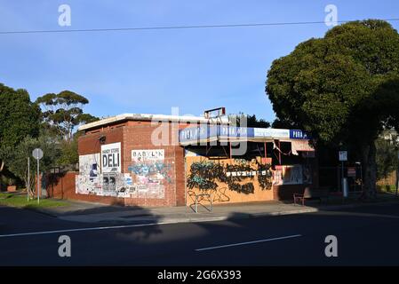
<path id="1" fill-rule="evenodd" d="M 363 196 L 365 198 L 377 197 L 377 148 L 375 142 L 362 147 L 363 164 Z"/>

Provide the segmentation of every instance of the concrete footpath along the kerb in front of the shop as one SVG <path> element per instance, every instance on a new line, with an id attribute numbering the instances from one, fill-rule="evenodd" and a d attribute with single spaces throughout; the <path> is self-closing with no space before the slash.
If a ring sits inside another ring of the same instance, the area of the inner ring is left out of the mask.
<path id="1" fill-rule="evenodd" d="M 99 203 L 83 201 L 67 201 L 67 206 L 36 209 L 44 214 L 63 220 L 83 223 L 188 223 L 204 221 L 221 221 L 235 218 L 278 216 L 299 213 L 317 212 L 320 210 L 335 210 L 353 208 L 366 205 L 384 205 L 398 203 L 396 198 L 384 198 L 378 201 L 359 203 L 356 201 L 334 201 L 319 203 L 308 201 L 306 206 L 283 203 L 281 201 L 263 201 L 251 203 L 235 203 L 213 205 L 210 211 L 208 204 L 198 206 L 198 213 L 194 206 L 172 208 L 142 208 L 109 206 Z"/>

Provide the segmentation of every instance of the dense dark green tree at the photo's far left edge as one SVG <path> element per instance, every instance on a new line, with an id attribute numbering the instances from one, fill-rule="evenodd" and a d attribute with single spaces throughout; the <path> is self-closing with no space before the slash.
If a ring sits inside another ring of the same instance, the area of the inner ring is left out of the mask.
<path id="1" fill-rule="evenodd" d="M 40 108 L 30 101 L 28 91 L 0 83 L 0 150 L 17 146 L 27 135 L 37 137 L 39 125 Z M 0 171 L 8 162 L 0 154 Z"/>

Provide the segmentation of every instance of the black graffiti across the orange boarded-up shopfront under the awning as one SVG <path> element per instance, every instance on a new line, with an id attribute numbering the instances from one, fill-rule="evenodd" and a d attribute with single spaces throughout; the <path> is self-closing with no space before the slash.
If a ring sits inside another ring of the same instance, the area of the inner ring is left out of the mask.
<path id="1" fill-rule="evenodd" d="M 229 190 L 237 193 L 254 193 L 253 179 L 257 177 L 262 190 L 271 189 L 271 171 L 269 164 L 247 160 L 235 160 L 234 163 L 202 161 L 193 162 L 190 167 L 187 185 L 189 189 L 218 190 L 218 182 L 227 184 Z M 225 193 L 223 193 L 226 195 Z"/>

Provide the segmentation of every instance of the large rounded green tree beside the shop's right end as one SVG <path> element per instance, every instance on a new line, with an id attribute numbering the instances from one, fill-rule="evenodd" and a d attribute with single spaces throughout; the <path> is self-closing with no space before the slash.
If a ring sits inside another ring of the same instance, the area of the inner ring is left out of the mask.
<path id="1" fill-rule="evenodd" d="M 366 195 L 376 193 L 375 140 L 399 129 L 399 35 L 383 20 L 348 22 L 276 59 L 266 92 L 277 118 L 309 131 L 315 145 L 348 146 L 361 159 Z"/>

